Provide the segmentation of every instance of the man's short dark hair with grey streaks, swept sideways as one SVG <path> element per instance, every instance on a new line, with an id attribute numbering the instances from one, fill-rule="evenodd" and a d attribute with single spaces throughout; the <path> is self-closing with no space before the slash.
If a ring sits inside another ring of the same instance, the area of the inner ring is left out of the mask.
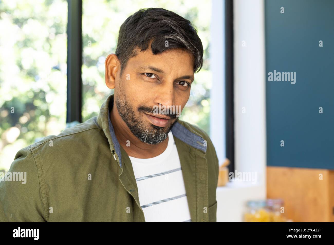
<path id="1" fill-rule="evenodd" d="M 147 8 L 129 16 L 121 25 L 115 52 L 121 74 L 128 60 L 137 55 L 135 49 L 146 50 L 151 40 L 154 55 L 168 49 L 183 49 L 194 57 L 194 73 L 202 68 L 203 45 L 191 22 L 163 8 Z"/>

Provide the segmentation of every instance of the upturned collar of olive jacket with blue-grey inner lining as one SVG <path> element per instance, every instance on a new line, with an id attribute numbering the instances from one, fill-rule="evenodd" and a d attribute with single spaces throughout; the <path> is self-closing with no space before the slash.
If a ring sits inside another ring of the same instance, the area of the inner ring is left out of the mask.
<path id="1" fill-rule="evenodd" d="M 97 122 L 109 141 L 110 150 L 113 153 L 114 158 L 118 160 L 120 167 L 122 167 L 121 146 L 116 138 L 115 130 L 110 120 L 110 112 L 113 105 L 114 95 L 110 95 L 100 108 Z M 172 127 L 171 131 L 176 138 L 180 139 L 184 143 L 195 149 L 199 149 L 204 153 L 206 152 L 206 144 L 203 144 L 204 139 L 202 135 L 194 131 L 187 123 L 178 120 L 178 122 L 176 122 Z"/>

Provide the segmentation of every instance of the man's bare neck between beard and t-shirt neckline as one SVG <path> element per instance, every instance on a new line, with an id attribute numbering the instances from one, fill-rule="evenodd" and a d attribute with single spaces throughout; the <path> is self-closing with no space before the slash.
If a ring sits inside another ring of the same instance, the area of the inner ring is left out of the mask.
<path id="1" fill-rule="evenodd" d="M 129 156 L 152 158 L 160 155 L 167 148 L 168 137 L 160 144 L 147 144 L 140 141 L 119 115 L 115 101 L 110 113 L 110 120 L 115 129 L 118 142 Z"/>

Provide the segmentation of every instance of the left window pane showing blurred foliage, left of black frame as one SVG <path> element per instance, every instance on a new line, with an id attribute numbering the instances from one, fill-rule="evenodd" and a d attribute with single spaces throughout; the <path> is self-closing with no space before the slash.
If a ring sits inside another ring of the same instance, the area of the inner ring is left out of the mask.
<path id="1" fill-rule="evenodd" d="M 66 119 L 67 1 L 0 1 L 0 170 Z"/>

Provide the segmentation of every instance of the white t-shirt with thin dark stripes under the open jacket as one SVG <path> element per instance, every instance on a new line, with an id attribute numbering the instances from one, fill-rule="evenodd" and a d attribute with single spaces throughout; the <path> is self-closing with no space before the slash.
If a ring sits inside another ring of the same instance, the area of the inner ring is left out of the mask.
<path id="1" fill-rule="evenodd" d="M 129 156 L 145 221 L 191 222 L 179 155 L 172 131 L 164 152 L 152 158 Z"/>

